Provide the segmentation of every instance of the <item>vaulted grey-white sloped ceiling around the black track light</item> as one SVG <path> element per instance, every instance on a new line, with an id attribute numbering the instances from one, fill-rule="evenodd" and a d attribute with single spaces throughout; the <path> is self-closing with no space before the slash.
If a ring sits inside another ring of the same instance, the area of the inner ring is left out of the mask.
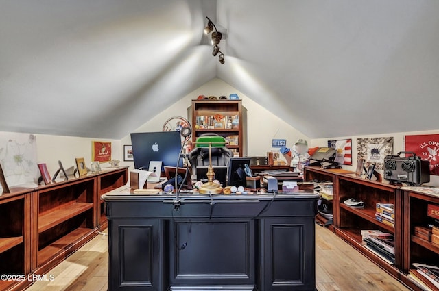
<path id="1" fill-rule="evenodd" d="M 439 1 L 0 0 L 0 130 L 126 136 L 213 77 L 310 138 L 438 129 Z M 227 29 L 221 65 L 205 16 Z"/>

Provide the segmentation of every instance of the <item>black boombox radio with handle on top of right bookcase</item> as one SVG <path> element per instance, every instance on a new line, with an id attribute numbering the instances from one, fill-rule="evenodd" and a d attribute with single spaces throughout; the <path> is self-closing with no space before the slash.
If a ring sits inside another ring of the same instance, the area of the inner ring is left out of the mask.
<path id="1" fill-rule="evenodd" d="M 401 157 L 404 153 L 406 157 Z M 407 154 L 410 155 L 407 157 Z M 384 179 L 420 186 L 430 181 L 430 162 L 411 151 L 400 151 L 384 158 Z"/>

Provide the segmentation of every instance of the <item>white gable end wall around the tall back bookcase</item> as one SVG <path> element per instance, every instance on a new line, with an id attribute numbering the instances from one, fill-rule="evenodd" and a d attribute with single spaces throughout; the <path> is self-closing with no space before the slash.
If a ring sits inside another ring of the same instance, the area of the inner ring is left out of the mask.
<path id="1" fill-rule="evenodd" d="M 271 151 L 272 138 L 285 138 L 287 139 L 288 147 L 292 147 L 294 142 L 298 138 L 305 138 L 309 140 L 307 136 L 297 131 L 291 125 L 285 123 L 285 121 L 272 114 L 258 103 L 252 101 L 251 97 L 239 92 L 235 87 L 230 86 L 222 79 L 214 78 L 208 81 L 203 86 L 200 86 L 193 92 L 187 94 L 180 99 L 177 103 L 168 107 L 166 110 L 158 113 L 133 132 L 147 132 L 147 131 L 161 131 L 163 123 L 171 116 L 184 116 L 188 117 L 188 108 L 191 106 L 191 100 L 197 99 L 201 94 L 206 96 L 225 95 L 227 97 L 230 94 L 238 94 L 239 99 L 242 100 L 242 105 L 247 110 L 247 155 L 266 155 L 267 151 Z M 131 138 L 128 134 L 122 138 L 121 146 L 123 144 L 131 144 Z M 123 165 L 134 167 L 133 162 L 123 162 Z"/>

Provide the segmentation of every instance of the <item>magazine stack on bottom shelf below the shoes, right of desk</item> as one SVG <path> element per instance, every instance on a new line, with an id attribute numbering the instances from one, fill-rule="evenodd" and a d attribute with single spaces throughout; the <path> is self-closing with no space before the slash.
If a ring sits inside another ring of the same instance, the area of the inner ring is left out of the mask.
<path id="1" fill-rule="evenodd" d="M 367 249 L 389 264 L 395 264 L 395 240 L 391 233 L 379 230 L 361 230 L 363 244 Z"/>

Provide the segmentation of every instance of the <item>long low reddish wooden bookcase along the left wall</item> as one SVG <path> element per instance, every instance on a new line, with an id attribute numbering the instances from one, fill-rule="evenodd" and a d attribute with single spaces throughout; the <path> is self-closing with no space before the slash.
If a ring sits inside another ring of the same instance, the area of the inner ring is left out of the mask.
<path id="1" fill-rule="evenodd" d="M 47 274 L 106 227 L 100 197 L 127 181 L 123 167 L 0 195 L 0 274 Z M 32 283 L 0 281 L 0 290 Z"/>

